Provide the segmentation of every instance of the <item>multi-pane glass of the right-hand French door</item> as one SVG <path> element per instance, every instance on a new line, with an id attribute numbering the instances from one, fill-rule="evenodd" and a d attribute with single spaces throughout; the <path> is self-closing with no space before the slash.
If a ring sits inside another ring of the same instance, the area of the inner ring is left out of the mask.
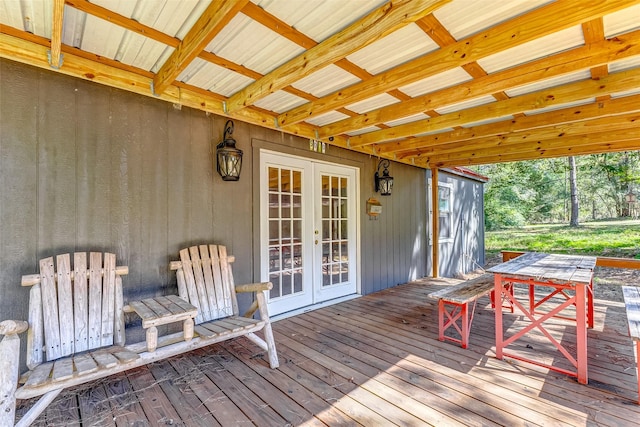
<path id="1" fill-rule="evenodd" d="M 322 286 L 329 287 L 349 280 L 349 251 L 347 228 L 349 212 L 348 179 L 339 176 L 322 175 L 323 185 L 329 184 L 326 196 L 323 186 L 322 197 Z"/>

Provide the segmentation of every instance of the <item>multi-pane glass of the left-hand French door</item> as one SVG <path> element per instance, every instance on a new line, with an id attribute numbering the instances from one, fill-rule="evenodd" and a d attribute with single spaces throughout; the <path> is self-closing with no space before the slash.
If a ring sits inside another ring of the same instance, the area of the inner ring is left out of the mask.
<path id="1" fill-rule="evenodd" d="M 303 292 L 302 199 L 301 171 L 269 167 L 270 300 Z"/>

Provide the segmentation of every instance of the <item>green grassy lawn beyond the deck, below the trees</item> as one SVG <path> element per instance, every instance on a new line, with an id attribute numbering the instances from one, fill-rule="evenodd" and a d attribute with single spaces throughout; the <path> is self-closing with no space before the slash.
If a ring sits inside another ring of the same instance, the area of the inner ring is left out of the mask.
<path id="1" fill-rule="evenodd" d="M 531 225 L 488 231 L 485 245 L 488 255 L 513 250 L 640 259 L 640 220 L 589 222 L 578 228 Z"/>

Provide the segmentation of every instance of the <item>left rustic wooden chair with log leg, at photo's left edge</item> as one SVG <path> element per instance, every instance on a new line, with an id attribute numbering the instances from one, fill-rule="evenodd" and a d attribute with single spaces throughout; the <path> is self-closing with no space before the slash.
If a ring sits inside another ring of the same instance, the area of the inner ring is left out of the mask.
<path id="1" fill-rule="evenodd" d="M 42 396 L 18 425 L 29 425 L 64 389 L 124 370 L 139 358 L 125 349 L 122 279 L 114 254 L 78 252 L 40 260 L 31 286 L 27 332 L 28 371 L 18 385 L 20 340 L 26 322 L 0 325 L 0 425 L 12 425 L 16 399 Z"/>

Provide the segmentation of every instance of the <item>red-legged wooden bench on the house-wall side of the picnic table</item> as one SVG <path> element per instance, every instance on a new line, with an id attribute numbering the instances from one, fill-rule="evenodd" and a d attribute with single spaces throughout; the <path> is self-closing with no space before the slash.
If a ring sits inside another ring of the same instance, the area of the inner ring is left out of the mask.
<path id="1" fill-rule="evenodd" d="M 438 339 L 453 341 L 461 344 L 462 348 L 467 348 L 477 301 L 480 297 L 491 293 L 493 289 L 493 274 L 485 273 L 457 285 L 431 292 L 428 295 L 429 298 L 438 301 Z M 469 311 L 469 303 L 473 303 L 471 311 Z M 450 327 L 456 329 L 460 338 L 444 334 Z"/>

